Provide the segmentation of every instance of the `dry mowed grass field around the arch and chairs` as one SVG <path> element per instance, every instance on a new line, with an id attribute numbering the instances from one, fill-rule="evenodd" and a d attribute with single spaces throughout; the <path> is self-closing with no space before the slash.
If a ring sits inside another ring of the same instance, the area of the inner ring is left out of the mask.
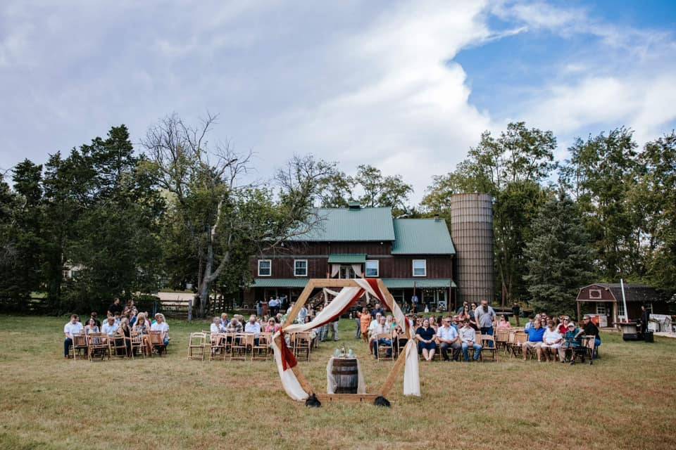
<path id="1" fill-rule="evenodd" d="M 306 408 L 273 361 L 187 361 L 206 322 L 170 321 L 168 356 L 63 359 L 66 318 L 0 315 L 0 449 L 675 449 L 676 340 L 604 333 L 588 364 L 420 362 L 422 398 Z M 373 392 L 391 368 L 340 321 Z M 325 392 L 325 342 L 301 368 Z"/>

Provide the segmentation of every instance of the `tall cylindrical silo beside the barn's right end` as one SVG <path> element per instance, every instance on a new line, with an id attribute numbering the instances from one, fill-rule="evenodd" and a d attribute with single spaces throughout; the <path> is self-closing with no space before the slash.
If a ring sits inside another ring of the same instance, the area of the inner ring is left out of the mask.
<path id="1" fill-rule="evenodd" d="M 451 238 L 456 248 L 458 305 L 494 297 L 493 205 L 488 194 L 451 197 Z"/>

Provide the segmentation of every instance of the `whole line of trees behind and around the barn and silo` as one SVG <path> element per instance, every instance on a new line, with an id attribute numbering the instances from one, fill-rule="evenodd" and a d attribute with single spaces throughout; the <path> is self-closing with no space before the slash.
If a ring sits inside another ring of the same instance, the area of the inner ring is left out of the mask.
<path id="1" fill-rule="evenodd" d="M 212 293 L 251 282 L 250 257 L 318 226 L 314 207 L 392 207 L 396 217 L 450 221 L 455 193 L 494 199 L 496 300 L 572 312 L 581 285 L 619 278 L 676 291 L 676 134 L 642 148 L 624 127 L 576 139 L 556 161 L 551 131 L 486 131 L 419 205 L 411 184 L 360 165 L 296 156 L 268 180 L 251 153 L 209 140 L 217 117 L 170 115 L 136 149 L 124 125 L 68 155 L 24 160 L 0 180 L 0 297 L 17 307 L 44 293 L 49 310 L 100 309 L 111 298 L 193 286 L 197 314 Z M 65 277 L 71 271 L 72 277 Z"/>

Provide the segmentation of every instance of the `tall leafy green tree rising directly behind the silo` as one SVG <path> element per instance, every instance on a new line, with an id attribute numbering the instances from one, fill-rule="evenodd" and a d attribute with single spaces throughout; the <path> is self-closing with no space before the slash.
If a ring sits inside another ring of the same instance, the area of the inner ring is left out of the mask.
<path id="1" fill-rule="evenodd" d="M 524 122 L 508 124 L 497 137 L 485 131 L 455 171 L 434 178 L 421 203 L 427 214 L 450 219 L 451 195 L 492 195 L 496 285 L 503 305 L 528 295 L 523 282 L 523 251 L 531 235 L 532 218 L 549 198 L 542 183 L 556 167 L 555 148 L 551 131 L 528 129 Z"/>

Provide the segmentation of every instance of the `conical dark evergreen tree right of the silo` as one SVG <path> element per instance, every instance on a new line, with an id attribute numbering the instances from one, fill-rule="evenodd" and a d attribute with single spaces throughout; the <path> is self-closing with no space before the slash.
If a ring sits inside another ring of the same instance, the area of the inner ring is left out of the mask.
<path id="1" fill-rule="evenodd" d="M 591 281 L 592 259 L 580 212 L 561 191 L 539 208 L 525 249 L 524 279 L 534 308 L 572 314 L 578 290 Z"/>

